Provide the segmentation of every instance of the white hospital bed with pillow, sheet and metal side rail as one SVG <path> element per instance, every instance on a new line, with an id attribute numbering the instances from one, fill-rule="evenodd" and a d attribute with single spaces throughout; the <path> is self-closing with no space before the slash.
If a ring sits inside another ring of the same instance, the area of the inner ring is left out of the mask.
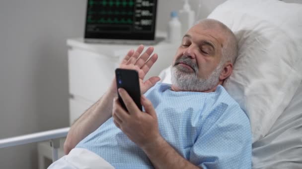
<path id="1" fill-rule="evenodd" d="M 209 17 L 224 22 L 239 40 L 234 72 L 224 85 L 251 119 L 253 169 L 302 169 L 302 5 L 277 0 L 228 0 Z M 288 38 L 280 39 L 283 35 Z M 284 46 L 274 43 L 281 40 Z M 160 76 L 169 83 L 169 68 Z M 255 92 L 255 87 L 264 94 Z M 68 130 L 1 139 L 0 148 L 50 140 L 55 161 L 59 138 L 66 137 Z"/>

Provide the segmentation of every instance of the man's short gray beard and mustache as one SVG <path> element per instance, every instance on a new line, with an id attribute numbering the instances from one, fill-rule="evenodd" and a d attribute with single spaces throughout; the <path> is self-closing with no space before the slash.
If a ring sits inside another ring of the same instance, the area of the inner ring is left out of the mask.
<path id="1" fill-rule="evenodd" d="M 190 65 L 194 72 L 178 65 L 180 61 Z M 175 61 L 171 69 L 172 84 L 182 91 L 206 91 L 214 88 L 219 83 L 219 76 L 223 71 L 223 62 L 221 61 L 212 74 L 207 78 L 198 78 L 198 67 L 190 58 L 183 56 Z"/>

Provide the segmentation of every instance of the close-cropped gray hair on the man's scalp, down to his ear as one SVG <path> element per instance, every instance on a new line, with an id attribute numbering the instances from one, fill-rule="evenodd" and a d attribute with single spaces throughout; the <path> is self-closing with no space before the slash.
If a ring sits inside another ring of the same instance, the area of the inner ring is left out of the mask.
<path id="1" fill-rule="evenodd" d="M 225 24 L 215 19 L 203 19 L 198 21 L 196 25 L 203 29 L 217 30 L 224 37 L 222 61 L 224 63 L 230 61 L 233 64 L 238 54 L 238 43 L 234 33 Z"/>

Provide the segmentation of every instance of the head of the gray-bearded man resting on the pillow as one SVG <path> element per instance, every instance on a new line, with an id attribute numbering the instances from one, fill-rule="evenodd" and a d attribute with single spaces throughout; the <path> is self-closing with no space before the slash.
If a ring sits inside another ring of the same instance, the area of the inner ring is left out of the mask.
<path id="1" fill-rule="evenodd" d="M 172 63 L 174 91 L 215 91 L 231 75 L 237 56 L 234 34 L 214 19 L 199 21 L 184 35 Z"/>

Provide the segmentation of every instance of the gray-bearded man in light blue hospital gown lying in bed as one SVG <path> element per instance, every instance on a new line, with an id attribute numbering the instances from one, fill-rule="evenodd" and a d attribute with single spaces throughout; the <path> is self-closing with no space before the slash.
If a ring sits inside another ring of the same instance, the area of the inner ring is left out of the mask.
<path id="1" fill-rule="evenodd" d="M 172 63 L 172 85 L 156 84 L 158 77 L 143 82 L 157 59 L 148 60 L 152 47 L 141 55 L 143 49 L 130 50 L 120 68 L 139 72 L 144 111 L 114 80 L 71 127 L 64 145 L 69 155 L 50 168 L 251 168 L 249 120 L 222 86 L 237 55 L 227 26 L 206 19 L 186 33 Z"/>

